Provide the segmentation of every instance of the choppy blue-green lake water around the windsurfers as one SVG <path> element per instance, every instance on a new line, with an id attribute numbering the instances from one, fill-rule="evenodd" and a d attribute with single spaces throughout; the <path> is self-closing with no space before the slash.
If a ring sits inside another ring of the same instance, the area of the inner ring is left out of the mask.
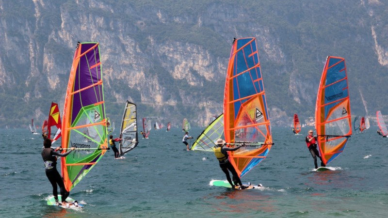
<path id="1" fill-rule="evenodd" d="M 192 129 L 190 135 L 201 131 Z M 242 177 L 243 183 L 266 188 L 230 190 L 209 186 L 212 179 L 225 179 L 212 153 L 185 151 L 179 129 L 152 131 L 126 159 L 113 159 L 108 151 L 71 191 L 70 197 L 85 203 L 75 211 L 46 205 L 52 193 L 40 135 L 3 129 L 0 217 L 387 216 L 388 139 L 379 137 L 376 127 L 351 137 L 329 164 L 336 171 L 312 171 L 304 135 L 274 127 L 269 155 Z"/>

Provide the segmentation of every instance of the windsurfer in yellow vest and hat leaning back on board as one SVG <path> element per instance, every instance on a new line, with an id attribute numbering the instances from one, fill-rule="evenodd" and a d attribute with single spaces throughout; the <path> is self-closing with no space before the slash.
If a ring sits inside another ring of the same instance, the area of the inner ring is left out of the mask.
<path id="1" fill-rule="evenodd" d="M 214 147 L 214 155 L 217 157 L 217 159 L 219 161 L 221 170 L 226 175 L 226 180 L 229 182 L 229 184 L 232 186 L 232 188 L 237 186 L 237 184 L 240 185 L 241 189 L 247 188 L 246 186 L 242 185 L 239 175 L 237 174 L 237 172 L 234 169 L 233 165 L 229 162 L 229 158 L 228 158 L 229 155 L 227 153 L 228 151 L 236 151 L 236 150 L 238 150 L 244 144 L 242 144 L 240 146 L 237 146 L 235 148 L 228 148 L 228 147 L 224 146 L 224 144 L 226 144 L 226 142 L 224 140 L 222 140 L 222 139 L 218 139 L 216 144 L 217 145 Z M 232 183 L 232 180 L 230 179 L 230 175 L 229 175 L 229 171 L 228 170 L 232 173 L 233 181 L 235 181 L 235 183 L 237 182 L 236 184 Z"/>

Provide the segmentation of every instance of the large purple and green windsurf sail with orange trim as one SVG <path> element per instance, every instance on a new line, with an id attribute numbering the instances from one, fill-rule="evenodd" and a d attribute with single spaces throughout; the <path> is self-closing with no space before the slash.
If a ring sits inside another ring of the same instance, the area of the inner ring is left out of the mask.
<path id="1" fill-rule="evenodd" d="M 62 177 L 70 191 L 109 149 L 98 43 L 77 44 L 62 118 L 62 148 L 76 148 L 61 158 Z"/>

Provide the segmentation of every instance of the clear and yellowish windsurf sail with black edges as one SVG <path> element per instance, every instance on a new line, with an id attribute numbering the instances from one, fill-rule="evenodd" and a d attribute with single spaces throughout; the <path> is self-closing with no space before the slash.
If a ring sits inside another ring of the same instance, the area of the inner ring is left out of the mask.
<path id="1" fill-rule="evenodd" d="M 124 108 L 120 138 L 119 152 L 121 156 L 134 149 L 139 143 L 137 136 L 136 104 L 129 101 L 127 101 Z"/>

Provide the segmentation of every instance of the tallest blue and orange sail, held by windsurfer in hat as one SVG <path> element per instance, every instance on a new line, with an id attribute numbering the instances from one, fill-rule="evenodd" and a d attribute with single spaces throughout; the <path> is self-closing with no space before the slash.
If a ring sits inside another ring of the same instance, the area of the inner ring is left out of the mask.
<path id="1" fill-rule="evenodd" d="M 256 38 L 233 43 L 225 83 L 224 130 L 227 143 L 246 143 L 229 153 L 240 177 L 257 166 L 273 145 Z"/>

